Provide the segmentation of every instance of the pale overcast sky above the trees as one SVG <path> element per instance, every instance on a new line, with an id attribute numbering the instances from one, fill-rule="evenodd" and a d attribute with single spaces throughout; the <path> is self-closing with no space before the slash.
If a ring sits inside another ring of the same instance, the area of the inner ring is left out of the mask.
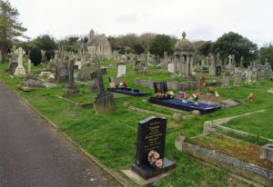
<path id="1" fill-rule="evenodd" d="M 173 34 L 217 40 L 229 31 L 273 42 L 272 0 L 9 0 L 32 38 L 51 34 Z"/>

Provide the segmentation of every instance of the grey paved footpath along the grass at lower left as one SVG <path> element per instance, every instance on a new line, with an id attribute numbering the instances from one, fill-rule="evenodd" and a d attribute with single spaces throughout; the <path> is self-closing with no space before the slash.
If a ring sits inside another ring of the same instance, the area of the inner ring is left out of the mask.
<path id="1" fill-rule="evenodd" d="M 115 185 L 0 83 L 0 187 Z"/>

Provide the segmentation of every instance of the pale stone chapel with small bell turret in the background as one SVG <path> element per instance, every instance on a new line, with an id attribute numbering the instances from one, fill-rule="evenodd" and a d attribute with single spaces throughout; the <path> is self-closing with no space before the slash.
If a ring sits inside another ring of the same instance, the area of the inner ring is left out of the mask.
<path id="1" fill-rule="evenodd" d="M 106 34 L 95 34 L 92 29 L 88 36 L 88 41 L 84 44 L 85 52 L 82 54 L 88 54 L 89 57 L 94 57 L 95 54 L 100 58 L 109 59 L 112 57 L 111 45 L 106 38 Z"/>

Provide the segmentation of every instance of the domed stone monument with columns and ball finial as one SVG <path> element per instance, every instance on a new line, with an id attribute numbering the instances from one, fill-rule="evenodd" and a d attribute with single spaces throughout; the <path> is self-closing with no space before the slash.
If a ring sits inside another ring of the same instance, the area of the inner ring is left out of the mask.
<path id="1" fill-rule="evenodd" d="M 186 39 L 186 33 L 183 32 L 182 39 L 175 45 L 174 74 L 192 77 L 194 51 L 194 45 Z"/>

